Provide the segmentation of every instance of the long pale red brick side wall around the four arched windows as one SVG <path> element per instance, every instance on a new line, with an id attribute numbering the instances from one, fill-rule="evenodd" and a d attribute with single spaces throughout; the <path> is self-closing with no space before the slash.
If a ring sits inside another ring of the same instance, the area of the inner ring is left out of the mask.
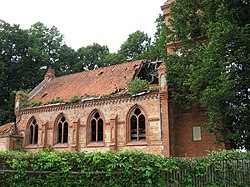
<path id="1" fill-rule="evenodd" d="M 128 141 L 127 116 L 133 106 L 139 106 L 146 117 L 146 142 L 131 143 Z M 98 110 L 104 121 L 104 143 L 89 143 L 88 118 L 93 110 Z M 55 121 L 63 113 L 69 123 L 68 144 L 55 143 Z M 89 101 L 80 104 L 48 106 L 29 109 L 21 112 L 21 121 L 17 124 L 18 134 L 24 136 L 24 148 L 36 151 L 51 146 L 58 151 L 118 151 L 141 150 L 153 154 L 161 154 L 162 141 L 160 134 L 159 95 L 149 93 L 137 97 L 120 97 Z M 116 116 L 116 117 L 115 117 Z M 37 145 L 28 145 L 29 132 L 27 125 L 35 117 L 39 125 Z M 115 119 L 115 120 L 114 120 Z M 17 117 L 17 121 L 19 117 Z M 115 127 L 117 132 L 115 132 Z M 117 134 L 117 139 L 114 136 Z M 116 143 L 116 145 L 115 145 Z"/>

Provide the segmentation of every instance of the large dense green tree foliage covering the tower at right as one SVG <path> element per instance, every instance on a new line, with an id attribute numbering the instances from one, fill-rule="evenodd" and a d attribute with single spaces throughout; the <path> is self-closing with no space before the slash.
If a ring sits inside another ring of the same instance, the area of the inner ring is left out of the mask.
<path id="1" fill-rule="evenodd" d="M 207 129 L 250 149 L 250 2 L 176 0 L 171 4 L 167 80 L 179 104 L 207 104 Z M 218 136 L 218 138 L 222 138 Z M 218 139 L 220 140 L 220 139 Z"/>

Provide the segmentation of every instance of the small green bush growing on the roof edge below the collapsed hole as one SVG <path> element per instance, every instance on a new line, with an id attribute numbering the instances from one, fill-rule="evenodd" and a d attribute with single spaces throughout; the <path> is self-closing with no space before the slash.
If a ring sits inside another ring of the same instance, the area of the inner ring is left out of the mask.
<path id="1" fill-rule="evenodd" d="M 138 77 L 130 79 L 127 82 L 128 92 L 132 95 L 137 94 L 139 92 L 144 91 L 148 87 L 148 84 L 149 83 L 147 80 L 142 80 Z"/>

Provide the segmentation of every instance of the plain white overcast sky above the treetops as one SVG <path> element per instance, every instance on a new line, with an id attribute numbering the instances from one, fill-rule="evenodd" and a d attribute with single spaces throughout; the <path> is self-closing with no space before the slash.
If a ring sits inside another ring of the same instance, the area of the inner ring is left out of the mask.
<path id="1" fill-rule="evenodd" d="M 65 43 L 78 49 L 94 42 L 115 52 L 128 35 L 153 36 L 166 0 L 0 0 L 0 19 L 27 29 L 40 21 L 56 26 Z"/>

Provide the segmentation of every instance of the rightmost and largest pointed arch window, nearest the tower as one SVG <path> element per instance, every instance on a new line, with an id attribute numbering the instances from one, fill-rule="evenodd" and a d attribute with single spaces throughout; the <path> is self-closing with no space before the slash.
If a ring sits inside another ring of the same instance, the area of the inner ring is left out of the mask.
<path id="1" fill-rule="evenodd" d="M 130 141 L 146 141 L 146 119 L 139 108 L 130 116 Z"/>

